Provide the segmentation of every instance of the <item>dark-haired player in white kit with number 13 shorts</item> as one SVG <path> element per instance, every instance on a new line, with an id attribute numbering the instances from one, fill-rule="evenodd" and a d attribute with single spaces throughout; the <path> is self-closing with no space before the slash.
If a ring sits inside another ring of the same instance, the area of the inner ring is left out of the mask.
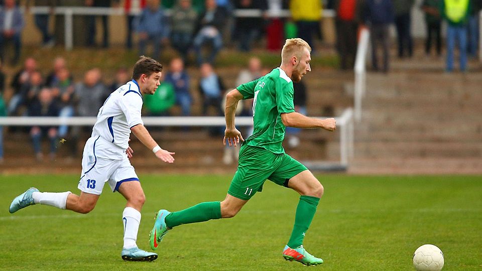
<path id="1" fill-rule="evenodd" d="M 42 193 L 36 188 L 30 188 L 12 201 L 10 213 L 40 203 L 85 214 L 95 207 L 104 183 L 107 182 L 113 192 L 118 191 L 127 200 L 122 214 L 122 258 L 134 261 L 157 259 L 156 253 L 139 249 L 136 244 L 141 221 L 140 211 L 146 197 L 129 161 L 133 153 L 129 147 L 129 137 L 132 131 L 157 158 L 166 163 L 174 162 L 174 153 L 159 147 L 141 119 L 142 94 L 154 94 L 160 85 L 161 71 L 162 65 L 159 62 L 141 56 L 134 65 L 132 81 L 112 92 L 100 107 L 97 122 L 92 128 L 92 136 L 84 147 L 78 185 L 80 196 L 70 191 Z"/>

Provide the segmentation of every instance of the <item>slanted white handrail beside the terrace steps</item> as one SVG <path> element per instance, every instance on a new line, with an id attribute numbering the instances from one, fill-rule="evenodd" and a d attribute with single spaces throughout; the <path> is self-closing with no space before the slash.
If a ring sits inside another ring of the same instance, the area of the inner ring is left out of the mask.
<path id="1" fill-rule="evenodd" d="M 354 83 L 354 107 L 356 121 L 362 120 L 362 99 L 365 96 L 367 88 L 367 53 L 370 41 L 370 31 L 363 28 L 360 31 L 358 47 L 356 48 L 356 59 L 354 65 L 355 83 Z"/>

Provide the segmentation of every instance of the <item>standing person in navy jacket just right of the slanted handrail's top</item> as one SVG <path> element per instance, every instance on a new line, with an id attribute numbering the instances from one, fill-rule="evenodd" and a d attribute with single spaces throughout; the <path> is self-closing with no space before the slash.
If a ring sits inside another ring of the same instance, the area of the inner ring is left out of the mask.
<path id="1" fill-rule="evenodd" d="M 383 50 L 383 72 L 388 72 L 390 66 L 389 27 L 394 22 L 394 10 L 392 0 L 367 0 L 364 21 L 370 28 L 370 39 L 372 42 L 372 67 L 379 71 L 378 46 L 382 45 Z"/>

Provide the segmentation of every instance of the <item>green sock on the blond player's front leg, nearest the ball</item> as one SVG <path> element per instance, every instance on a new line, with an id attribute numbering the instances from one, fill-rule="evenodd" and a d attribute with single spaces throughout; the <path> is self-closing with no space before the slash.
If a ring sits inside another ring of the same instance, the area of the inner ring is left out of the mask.
<path id="1" fill-rule="evenodd" d="M 320 201 L 317 197 L 301 196 L 298 207 L 296 208 L 295 225 L 293 232 L 291 232 L 288 246 L 291 248 L 297 248 L 303 244 L 305 238 L 305 232 L 310 227 L 313 216 L 316 212 L 316 206 Z"/>

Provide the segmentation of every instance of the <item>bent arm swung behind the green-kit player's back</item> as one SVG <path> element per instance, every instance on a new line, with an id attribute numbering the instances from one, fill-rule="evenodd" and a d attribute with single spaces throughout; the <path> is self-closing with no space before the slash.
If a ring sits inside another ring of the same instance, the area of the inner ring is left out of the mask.
<path id="1" fill-rule="evenodd" d="M 224 138 L 222 144 L 226 145 L 226 140 L 229 146 L 237 146 L 239 141 L 245 141 L 241 132 L 234 126 L 234 115 L 236 114 L 236 107 L 239 100 L 243 99 L 243 94 L 237 89 L 233 89 L 226 94 L 226 107 L 224 108 L 224 118 L 226 119 L 226 129 L 224 130 Z"/>

